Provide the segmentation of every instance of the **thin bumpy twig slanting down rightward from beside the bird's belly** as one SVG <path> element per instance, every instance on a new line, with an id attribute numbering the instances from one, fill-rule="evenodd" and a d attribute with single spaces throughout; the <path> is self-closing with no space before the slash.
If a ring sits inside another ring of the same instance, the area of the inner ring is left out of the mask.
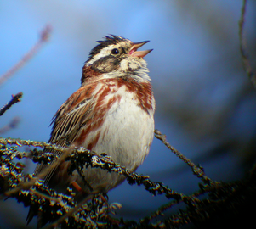
<path id="1" fill-rule="evenodd" d="M 160 131 L 155 130 L 155 137 L 159 140 L 162 141 L 163 144 L 166 145 L 168 149 L 170 149 L 176 156 L 179 157 L 179 159 L 182 159 L 185 164 L 189 165 L 196 174 L 197 177 L 201 178 L 203 182 L 209 184 L 209 183 L 214 183 L 213 180 L 208 178 L 208 176 L 205 176 L 204 171 L 202 167 L 196 166 L 191 159 L 186 158 L 183 154 L 181 154 L 176 148 L 172 147 L 167 141 L 166 141 L 166 136 L 162 134 Z"/>

